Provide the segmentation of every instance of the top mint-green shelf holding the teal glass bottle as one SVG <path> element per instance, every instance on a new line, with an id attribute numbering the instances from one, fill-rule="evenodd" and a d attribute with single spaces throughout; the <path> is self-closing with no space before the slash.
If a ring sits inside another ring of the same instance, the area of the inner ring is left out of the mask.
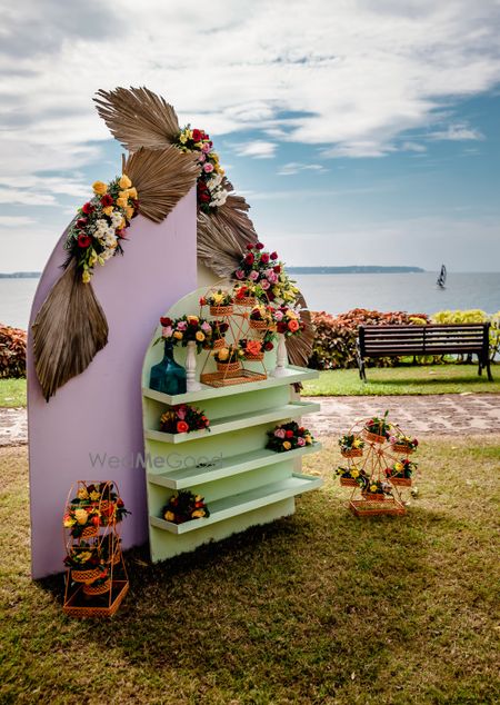
<path id="1" fill-rule="evenodd" d="M 287 368 L 287 375 L 284 377 L 268 377 L 258 383 L 246 383 L 242 385 L 231 385 L 229 387 L 209 387 L 208 385 L 202 385 L 200 391 L 187 391 L 186 394 L 177 394 L 174 396 L 156 391 L 149 387 L 142 387 L 142 396 L 147 399 L 153 399 L 154 401 L 161 401 L 162 404 L 172 406 L 174 404 L 191 404 L 193 401 L 203 401 L 204 399 L 248 394 L 253 389 L 256 391 L 258 389 L 271 389 L 272 387 L 282 387 L 283 385 L 304 381 L 306 379 L 316 379 L 317 377 L 318 373 L 313 369 L 291 365 Z"/>

